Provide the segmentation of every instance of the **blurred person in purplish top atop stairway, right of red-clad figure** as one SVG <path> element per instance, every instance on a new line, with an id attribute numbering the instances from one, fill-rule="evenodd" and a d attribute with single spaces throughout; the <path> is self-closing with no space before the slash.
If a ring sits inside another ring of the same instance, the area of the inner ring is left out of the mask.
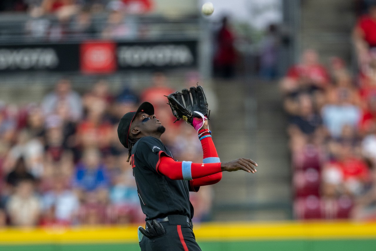
<path id="1" fill-rule="evenodd" d="M 280 44 L 280 37 L 278 34 L 278 27 L 276 24 L 270 24 L 265 37 L 260 42 L 260 71 L 259 74 L 265 80 L 273 80 L 278 75 L 278 51 Z"/>

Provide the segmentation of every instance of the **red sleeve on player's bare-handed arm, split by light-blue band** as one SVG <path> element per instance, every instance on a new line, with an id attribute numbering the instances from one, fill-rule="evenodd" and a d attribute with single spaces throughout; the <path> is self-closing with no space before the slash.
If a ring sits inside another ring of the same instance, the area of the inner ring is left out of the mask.
<path id="1" fill-rule="evenodd" d="M 167 176 L 170 179 L 184 179 L 182 164 L 169 156 L 161 155 L 159 165 L 156 167 L 158 173 Z M 221 163 L 191 163 L 190 174 L 192 179 L 201 178 L 210 174 L 222 173 Z"/>

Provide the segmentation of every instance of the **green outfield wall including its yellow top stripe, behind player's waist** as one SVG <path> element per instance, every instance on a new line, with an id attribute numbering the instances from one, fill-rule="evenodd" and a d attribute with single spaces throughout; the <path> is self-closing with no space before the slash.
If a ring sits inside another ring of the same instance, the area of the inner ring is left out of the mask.
<path id="1" fill-rule="evenodd" d="M 139 251 L 137 226 L 0 229 L 0 251 Z M 376 222 L 206 223 L 203 251 L 374 251 Z"/>

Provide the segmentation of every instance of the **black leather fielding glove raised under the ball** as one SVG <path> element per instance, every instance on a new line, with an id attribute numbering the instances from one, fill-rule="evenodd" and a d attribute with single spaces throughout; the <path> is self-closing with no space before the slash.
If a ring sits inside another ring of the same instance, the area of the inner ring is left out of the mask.
<path id="1" fill-rule="evenodd" d="M 196 129 L 194 118 L 204 119 L 205 116 L 209 119 L 210 111 L 202 86 L 193 86 L 189 90 L 183 89 L 181 92 L 171 93 L 167 99 L 176 121 L 183 119 Z"/>

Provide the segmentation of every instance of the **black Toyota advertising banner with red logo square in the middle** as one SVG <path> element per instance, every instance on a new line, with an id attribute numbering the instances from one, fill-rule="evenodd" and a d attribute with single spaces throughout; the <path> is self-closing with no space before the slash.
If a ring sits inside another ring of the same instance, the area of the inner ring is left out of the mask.
<path id="1" fill-rule="evenodd" d="M 84 74 L 106 74 L 117 70 L 197 67 L 197 47 L 196 40 L 90 40 L 69 44 L 0 45 L 0 73 L 80 71 Z"/>

